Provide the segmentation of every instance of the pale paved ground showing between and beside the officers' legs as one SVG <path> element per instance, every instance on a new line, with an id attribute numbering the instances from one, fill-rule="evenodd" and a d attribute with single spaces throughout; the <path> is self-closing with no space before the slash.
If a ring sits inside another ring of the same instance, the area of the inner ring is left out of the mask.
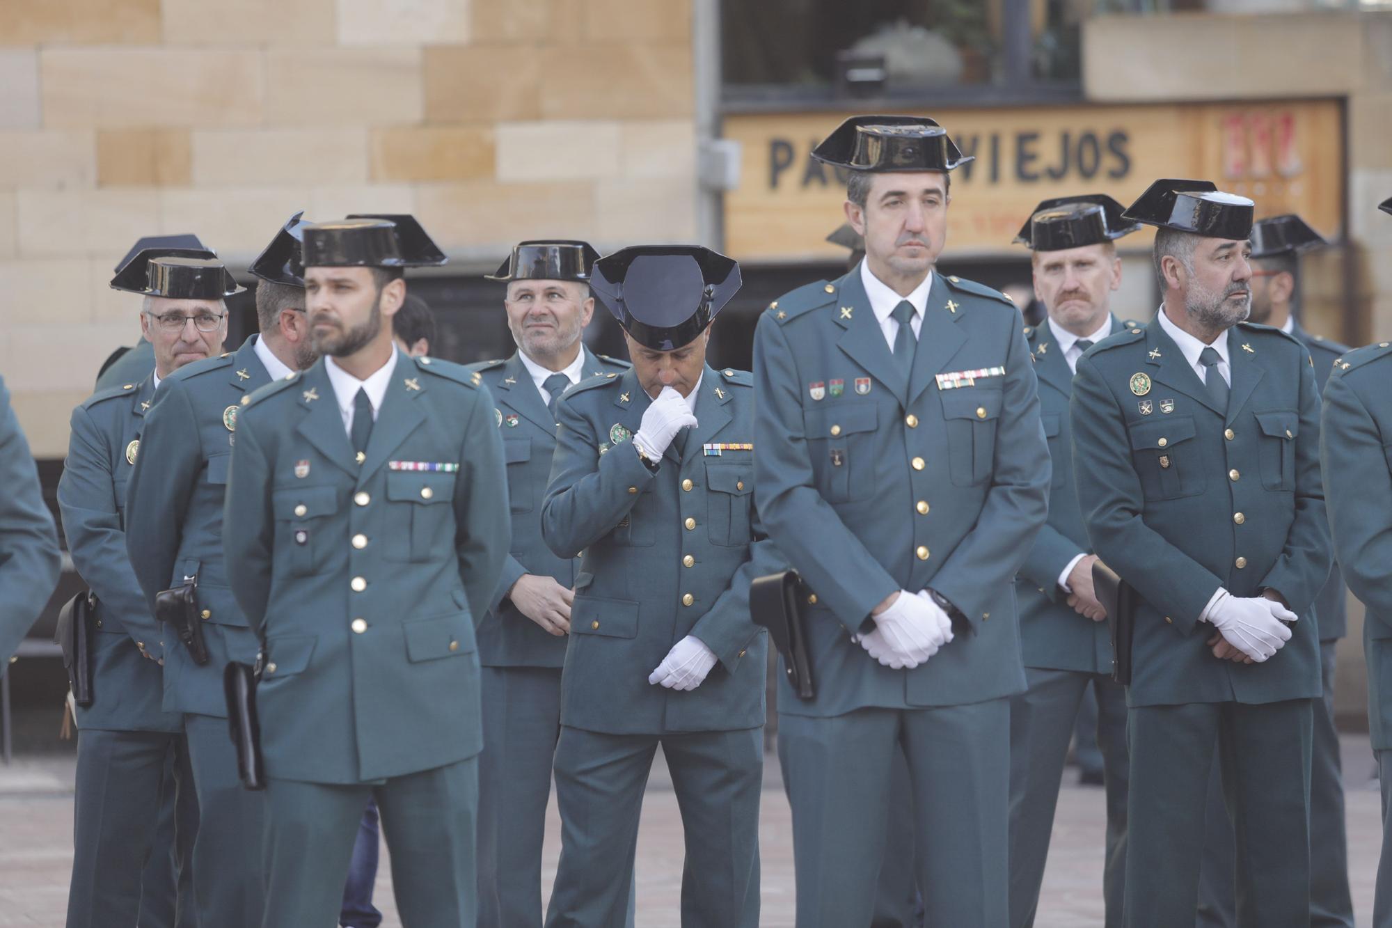
<path id="1" fill-rule="evenodd" d="M 660 755 L 658 755 L 660 757 Z M 1359 924 L 1370 924 L 1373 885 L 1381 847 L 1381 807 L 1371 779 L 1373 754 L 1367 736 L 1343 738 L 1347 790 L 1349 876 Z M 1102 924 L 1101 847 L 1102 793 L 1075 786 L 1065 773 L 1054 842 L 1037 928 L 1090 928 Z M 560 854 L 560 822 L 554 801 L 548 810 L 543 882 L 550 886 Z M 778 780 L 778 762 L 768 757 L 760 810 L 764 928 L 791 928 L 793 872 L 788 803 Z M 0 928 L 17 925 L 57 928 L 63 924 L 72 865 L 72 758 L 21 755 L 0 765 Z M 638 925 L 678 928 L 682 830 L 671 780 L 658 762 L 643 804 L 638 847 Z M 391 872 L 383 849 L 377 875 L 377 904 L 384 928 L 400 928 L 391 899 Z"/>

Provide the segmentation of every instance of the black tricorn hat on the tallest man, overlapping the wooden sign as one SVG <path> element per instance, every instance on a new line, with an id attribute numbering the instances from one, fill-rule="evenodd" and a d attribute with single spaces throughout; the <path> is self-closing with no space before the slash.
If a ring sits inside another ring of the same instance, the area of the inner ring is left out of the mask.
<path id="1" fill-rule="evenodd" d="M 812 156 L 857 171 L 951 171 L 976 160 L 926 116 L 852 116 Z"/>

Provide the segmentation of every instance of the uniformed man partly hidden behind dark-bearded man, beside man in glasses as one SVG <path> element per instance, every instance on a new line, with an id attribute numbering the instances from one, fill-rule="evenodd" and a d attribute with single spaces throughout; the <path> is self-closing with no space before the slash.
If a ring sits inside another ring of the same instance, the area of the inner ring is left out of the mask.
<path id="1" fill-rule="evenodd" d="M 248 928 L 262 917 L 263 796 L 244 790 L 227 737 L 223 667 L 253 662 L 256 637 L 237 608 L 223 566 L 223 496 L 237 412 L 249 393 L 313 361 L 301 281 L 299 213 L 252 262 L 260 334 L 235 354 L 181 368 L 160 385 L 145 417 L 142 453 L 127 496 L 125 546 L 145 605 L 161 589 L 196 587 L 209 660 L 196 663 L 163 628 L 164 711 L 188 740 L 198 793 L 193 844 L 200 928 Z"/>

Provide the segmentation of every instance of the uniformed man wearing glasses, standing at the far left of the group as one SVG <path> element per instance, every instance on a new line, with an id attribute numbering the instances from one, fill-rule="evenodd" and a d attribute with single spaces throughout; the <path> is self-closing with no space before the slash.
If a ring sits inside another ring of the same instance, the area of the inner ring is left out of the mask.
<path id="1" fill-rule="evenodd" d="M 170 635 L 156 623 L 127 553 L 127 486 L 156 387 L 175 369 L 221 351 L 224 301 L 242 288 L 212 251 L 157 247 L 131 255 L 111 287 L 143 297 L 141 330 L 155 348 L 155 369 L 138 383 L 99 390 L 72 411 L 58 482 L 68 550 L 96 598 L 93 702 L 77 706 L 67 924 L 193 925 L 193 784 L 182 719 L 163 706 L 160 665 Z M 166 783 L 171 755 L 178 762 Z M 174 854 L 159 828 L 166 805 L 185 811 L 173 825 Z"/>

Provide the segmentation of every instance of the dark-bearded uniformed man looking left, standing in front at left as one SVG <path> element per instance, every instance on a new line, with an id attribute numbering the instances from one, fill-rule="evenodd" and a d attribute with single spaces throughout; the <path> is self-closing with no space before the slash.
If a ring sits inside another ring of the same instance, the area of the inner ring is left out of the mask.
<path id="1" fill-rule="evenodd" d="M 237 421 L 223 524 L 262 641 L 264 928 L 331 925 L 363 807 L 406 925 L 476 913 L 482 619 L 508 552 L 493 400 L 393 346 L 404 269 L 445 258 L 411 216 L 303 229 L 322 357 Z"/>

